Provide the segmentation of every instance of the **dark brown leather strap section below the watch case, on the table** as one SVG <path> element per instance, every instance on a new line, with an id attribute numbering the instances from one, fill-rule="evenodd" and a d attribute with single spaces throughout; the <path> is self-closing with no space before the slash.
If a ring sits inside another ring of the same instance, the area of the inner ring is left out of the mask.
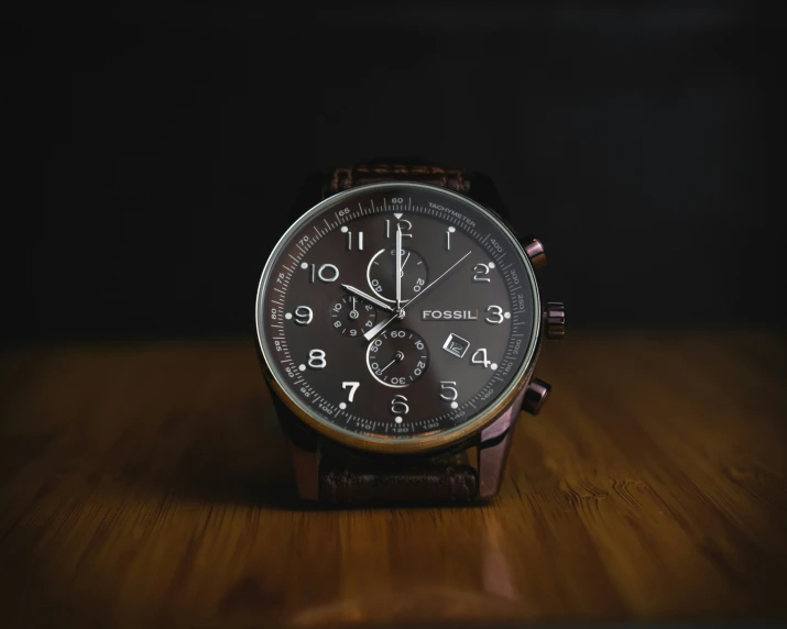
<path id="1" fill-rule="evenodd" d="M 478 475 L 470 465 L 375 470 L 320 464 L 319 497 L 334 505 L 457 503 L 477 495 Z"/>

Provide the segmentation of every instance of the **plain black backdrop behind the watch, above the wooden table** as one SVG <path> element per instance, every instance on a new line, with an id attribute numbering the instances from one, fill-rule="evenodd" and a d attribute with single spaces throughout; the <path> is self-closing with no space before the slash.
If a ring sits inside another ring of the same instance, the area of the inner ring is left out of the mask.
<path id="1" fill-rule="evenodd" d="M 780 327 L 776 5 L 13 15 L 3 334 L 250 332 L 304 175 L 376 155 L 492 175 L 572 328 Z"/>

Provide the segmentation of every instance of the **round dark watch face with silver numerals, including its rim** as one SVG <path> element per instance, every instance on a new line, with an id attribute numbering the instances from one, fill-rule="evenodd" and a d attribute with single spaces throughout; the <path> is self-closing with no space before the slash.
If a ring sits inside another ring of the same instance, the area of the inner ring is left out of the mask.
<path id="1" fill-rule="evenodd" d="M 324 434 L 390 451 L 445 444 L 500 412 L 533 361 L 539 317 L 533 267 L 500 220 L 412 183 L 306 212 L 256 298 L 285 402 Z"/>

